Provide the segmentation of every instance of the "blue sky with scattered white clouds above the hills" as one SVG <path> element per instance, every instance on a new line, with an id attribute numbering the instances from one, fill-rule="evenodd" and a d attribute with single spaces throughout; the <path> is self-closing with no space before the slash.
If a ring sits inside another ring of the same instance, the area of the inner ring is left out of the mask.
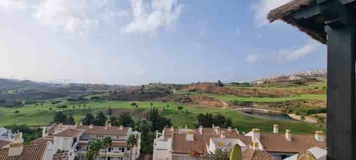
<path id="1" fill-rule="evenodd" d="M 326 47 L 268 10 L 288 0 L 1 0 L 0 76 L 142 84 L 326 68 Z"/>

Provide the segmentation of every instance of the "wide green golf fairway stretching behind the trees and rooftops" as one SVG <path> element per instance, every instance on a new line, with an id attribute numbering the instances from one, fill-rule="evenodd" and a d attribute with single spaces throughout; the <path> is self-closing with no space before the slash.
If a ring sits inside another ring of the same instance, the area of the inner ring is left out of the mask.
<path id="1" fill-rule="evenodd" d="M 78 122 L 87 113 L 95 113 L 97 111 L 105 111 L 108 106 L 111 106 L 113 110 L 134 110 L 133 116 L 137 120 L 141 118 L 144 112 L 150 109 L 150 102 L 136 102 L 138 108 L 132 107 L 130 104 L 132 102 L 124 101 L 101 101 L 101 102 L 89 102 L 87 107 L 80 109 L 76 105 L 72 108 L 72 105 L 68 105 L 65 110 L 66 114 L 72 114 L 74 119 Z M 177 107 L 181 104 L 179 103 L 165 103 L 165 102 L 153 102 L 153 107 L 166 108 L 167 104 L 170 105 L 168 110 L 162 111 L 163 116 L 170 118 L 175 126 L 188 126 L 193 127 L 197 123 L 196 115 L 198 113 L 213 113 L 213 114 L 223 114 L 232 119 L 233 124 L 243 131 L 249 131 L 252 128 L 260 128 L 262 131 L 272 131 L 273 124 L 279 124 L 280 129 L 283 131 L 285 129 L 293 130 L 293 133 L 313 133 L 315 130 L 325 130 L 325 128 L 320 128 L 315 124 L 303 123 L 298 121 L 277 121 L 277 120 L 267 120 L 258 119 L 250 116 L 246 116 L 239 111 L 232 109 L 214 109 L 194 105 L 183 105 L 184 111 L 178 111 Z M 25 107 L 19 108 L 4 108 L 0 107 L 0 126 L 12 125 L 12 124 L 27 124 L 29 126 L 43 126 L 48 125 L 52 120 L 56 111 L 60 109 L 55 108 L 56 105 L 51 105 L 49 101 L 45 101 L 44 106 L 34 106 L 27 105 Z M 90 107 L 90 110 L 89 110 Z M 52 108 L 52 110 L 49 110 Z M 14 113 L 14 111 L 19 111 L 19 113 Z M 185 112 L 188 110 L 188 112 Z"/>

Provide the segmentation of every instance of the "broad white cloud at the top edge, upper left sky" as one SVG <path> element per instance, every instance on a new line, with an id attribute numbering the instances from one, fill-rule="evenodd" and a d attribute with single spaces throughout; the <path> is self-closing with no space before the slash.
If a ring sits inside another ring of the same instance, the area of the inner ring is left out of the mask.
<path id="1" fill-rule="evenodd" d="M 63 28 L 66 32 L 82 32 L 100 22 L 108 22 L 114 14 L 105 0 L 45 0 L 39 4 L 34 16 L 40 22 Z"/>

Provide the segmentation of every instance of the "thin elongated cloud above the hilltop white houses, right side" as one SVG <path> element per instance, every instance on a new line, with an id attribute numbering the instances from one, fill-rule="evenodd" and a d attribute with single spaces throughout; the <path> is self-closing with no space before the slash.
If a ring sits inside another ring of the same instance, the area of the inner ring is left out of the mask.
<path id="1" fill-rule="evenodd" d="M 261 61 L 289 63 L 298 60 L 317 49 L 321 44 L 315 40 L 310 40 L 307 44 L 296 49 L 283 49 L 272 53 L 250 54 L 245 61 L 256 63 Z"/>

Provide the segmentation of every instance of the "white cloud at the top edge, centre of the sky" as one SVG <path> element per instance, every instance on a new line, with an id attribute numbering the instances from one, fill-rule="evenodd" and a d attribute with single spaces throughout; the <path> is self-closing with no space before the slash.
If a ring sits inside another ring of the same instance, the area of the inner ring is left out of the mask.
<path id="1" fill-rule="evenodd" d="M 172 28 L 181 15 L 182 5 L 177 0 L 131 0 L 132 21 L 123 32 L 149 33 Z"/>

